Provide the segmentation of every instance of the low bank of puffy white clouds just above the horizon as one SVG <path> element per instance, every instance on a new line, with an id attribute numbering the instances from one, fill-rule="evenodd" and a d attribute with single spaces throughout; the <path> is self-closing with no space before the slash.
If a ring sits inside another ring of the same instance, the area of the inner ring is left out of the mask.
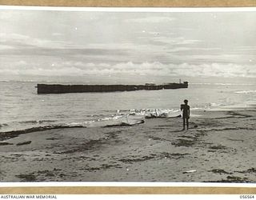
<path id="1" fill-rule="evenodd" d="M 94 62 L 46 62 L 40 65 L 37 62 L 20 60 L 0 66 L 0 74 L 26 74 L 44 76 L 88 76 L 98 78 L 100 76 L 118 76 L 120 78 L 132 76 L 139 79 L 140 76 L 148 77 L 218 77 L 218 78 L 256 78 L 254 65 L 238 65 L 234 63 L 205 63 L 205 64 L 163 64 L 162 62 L 120 62 L 94 63 Z M 6 66 L 5 65 L 5 66 Z"/>

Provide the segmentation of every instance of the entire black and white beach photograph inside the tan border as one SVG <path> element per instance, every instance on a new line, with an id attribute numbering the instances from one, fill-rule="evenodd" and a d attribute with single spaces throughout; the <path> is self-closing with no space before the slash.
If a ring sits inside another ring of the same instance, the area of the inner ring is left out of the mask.
<path id="1" fill-rule="evenodd" d="M 0 6 L 0 182 L 256 182 L 256 10 Z"/>

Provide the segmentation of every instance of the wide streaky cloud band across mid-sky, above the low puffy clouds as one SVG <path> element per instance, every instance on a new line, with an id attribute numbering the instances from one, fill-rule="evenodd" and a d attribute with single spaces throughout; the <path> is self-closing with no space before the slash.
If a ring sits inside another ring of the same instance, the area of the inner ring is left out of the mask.
<path id="1" fill-rule="evenodd" d="M 255 63 L 253 46 L 238 50 L 202 47 L 202 41 L 150 32 L 138 42 L 74 44 L 72 42 L 32 38 L 22 34 L 0 34 L 0 54 L 4 57 L 65 58 L 94 63 L 162 62 L 168 63 Z M 155 36 L 156 35 L 156 36 Z M 45 59 L 45 58 L 44 58 Z M 11 60 L 10 60 L 11 62 Z"/>

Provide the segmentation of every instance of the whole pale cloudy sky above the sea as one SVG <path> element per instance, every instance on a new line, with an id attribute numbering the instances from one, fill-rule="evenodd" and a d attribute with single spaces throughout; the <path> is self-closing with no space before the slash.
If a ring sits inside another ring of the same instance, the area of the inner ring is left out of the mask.
<path id="1" fill-rule="evenodd" d="M 256 12 L 0 10 L 0 26 L 0 79 L 256 78 Z"/>

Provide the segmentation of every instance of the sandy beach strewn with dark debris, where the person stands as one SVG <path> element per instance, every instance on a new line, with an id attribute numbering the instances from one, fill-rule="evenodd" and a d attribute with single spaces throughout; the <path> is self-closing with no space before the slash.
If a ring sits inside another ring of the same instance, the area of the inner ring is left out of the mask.
<path id="1" fill-rule="evenodd" d="M 256 182 L 256 110 L 0 135 L 1 182 Z"/>

